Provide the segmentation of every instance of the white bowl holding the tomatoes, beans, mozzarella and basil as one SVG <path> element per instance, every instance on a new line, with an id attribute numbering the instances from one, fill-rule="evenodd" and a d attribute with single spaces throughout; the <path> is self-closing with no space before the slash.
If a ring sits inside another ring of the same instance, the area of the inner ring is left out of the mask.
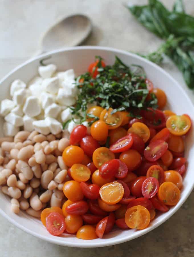
<path id="1" fill-rule="evenodd" d="M 180 87 L 180 85 L 159 66 L 147 61 L 135 54 L 126 51 L 117 50 L 109 47 L 72 47 L 65 50 L 52 51 L 48 54 L 41 55 L 30 59 L 11 71 L 6 77 L 0 81 L 1 95 L 0 100 L 9 97 L 9 86 L 14 79 L 21 79 L 28 82 L 32 77 L 37 75 L 39 61 L 47 56 L 50 59 L 46 63 L 54 63 L 59 71 L 73 68 L 77 75 L 87 71 L 88 65 L 94 61 L 95 55 L 100 55 L 104 58 L 105 63 L 113 64 L 115 55 L 117 55 L 127 65 L 137 64 L 144 67 L 147 77 L 153 82 L 155 87 L 159 87 L 166 92 L 168 98 L 168 108 L 177 114 L 187 113 L 194 121 L 194 107 L 191 100 Z M 0 120 L 0 128 L 2 128 L 3 119 Z M 0 130 L 2 131 L 2 129 Z M 3 136 L 3 135 L 0 135 Z M 19 215 L 11 212 L 9 197 L 0 192 L 0 214 L 7 218 L 17 227 L 28 232 L 29 234 L 46 240 L 48 242 L 72 246 L 72 247 L 101 247 L 119 244 L 142 236 L 160 224 L 165 222 L 172 216 L 185 202 L 194 186 L 193 167 L 194 167 L 194 135 L 193 128 L 186 137 L 185 157 L 188 160 L 187 172 L 183 180 L 183 189 L 181 190 L 181 198 L 178 204 L 166 213 L 158 215 L 150 225 L 144 230 L 113 230 L 103 239 L 81 240 L 73 235 L 64 234 L 60 237 L 52 236 L 46 228 L 41 224 L 40 220 L 28 216 L 25 212 L 20 212 Z"/>

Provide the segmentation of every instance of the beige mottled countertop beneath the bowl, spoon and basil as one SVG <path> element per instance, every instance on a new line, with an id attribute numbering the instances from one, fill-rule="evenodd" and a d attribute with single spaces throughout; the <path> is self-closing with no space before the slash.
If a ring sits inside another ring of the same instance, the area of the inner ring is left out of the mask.
<path id="1" fill-rule="evenodd" d="M 146 31 L 132 17 L 123 0 L 1 0 L 0 1 L 0 78 L 36 54 L 42 33 L 56 20 L 72 13 L 84 13 L 93 21 L 93 33 L 87 45 L 101 45 L 130 51 L 155 50 L 161 40 Z M 127 1 L 126 1 L 127 2 Z M 142 4 L 146 0 L 131 0 Z M 168 7 L 173 0 L 162 0 Z M 194 0 L 184 0 L 186 11 L 194 15 Z M 188 93 L 181 73 L 168 61 L 164 65 Z M 0 256 L 194 256 L 194 192 L 185 204 L 164 224 L 150 233 L 116 246 L 104 248 L 70 248 L 35 238 L 0 216 Z"/>

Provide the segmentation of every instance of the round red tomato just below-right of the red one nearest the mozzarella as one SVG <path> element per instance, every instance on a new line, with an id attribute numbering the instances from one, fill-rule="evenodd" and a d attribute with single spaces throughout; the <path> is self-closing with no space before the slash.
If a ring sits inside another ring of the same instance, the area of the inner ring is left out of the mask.
<path id="1" fill-rule="evenodd" d="M 100 144 L 92 136 L 85 136 L 81 139 L 80 147 L 87 156 L 92 157 L 93 152 L 100 147 Z"/>

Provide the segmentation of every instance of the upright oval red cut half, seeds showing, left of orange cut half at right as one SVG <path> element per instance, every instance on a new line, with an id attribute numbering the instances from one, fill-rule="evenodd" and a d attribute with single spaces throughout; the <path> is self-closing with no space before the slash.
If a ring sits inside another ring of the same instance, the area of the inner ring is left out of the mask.
<path id="1" fill-rule="evenodd" d="M 146 178 L 142 184 L 142 194 L 145 198 L 152 198 L 159 189 L 158 179 L 154 177 Z"/>

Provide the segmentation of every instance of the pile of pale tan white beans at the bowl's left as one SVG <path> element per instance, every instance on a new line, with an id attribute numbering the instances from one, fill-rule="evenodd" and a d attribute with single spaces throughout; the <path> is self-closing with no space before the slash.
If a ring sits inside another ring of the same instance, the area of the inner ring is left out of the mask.
<path id="1" fill-rule="evenodd" d="M 14 213 L 40 217 L 46 206 L 61 207 L 66 200 L 63 185 L 70 178 L 62 152 L 69 139 L 62 136 L 23 130 L 0 138 L 0 186 Z"/>

